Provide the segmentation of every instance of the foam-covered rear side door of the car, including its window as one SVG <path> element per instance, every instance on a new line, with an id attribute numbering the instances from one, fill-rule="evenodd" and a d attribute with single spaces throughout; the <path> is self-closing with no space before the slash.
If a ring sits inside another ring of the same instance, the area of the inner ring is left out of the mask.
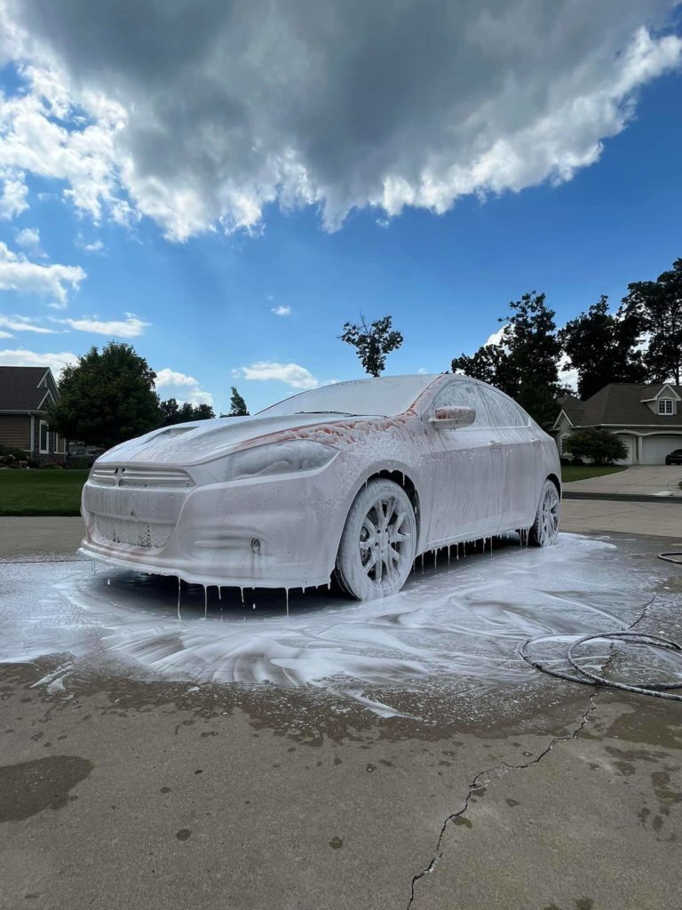
<path id="1" fill-rule="evenodd" d="M 516 401 L 479 386 L 490 415 L 492 470 L 499 490 L 497 531 L 516 531 L 532 523 L 537 510 L 539 439 L 525 410 Z"/>

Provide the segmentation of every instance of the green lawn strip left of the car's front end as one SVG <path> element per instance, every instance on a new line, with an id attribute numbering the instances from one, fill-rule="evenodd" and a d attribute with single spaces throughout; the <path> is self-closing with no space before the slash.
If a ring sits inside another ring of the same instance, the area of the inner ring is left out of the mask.
<path id="1" fill-rule="evenodd" d="M 79 515 L 87 470 L 0 470 L 0 515 Z"/>

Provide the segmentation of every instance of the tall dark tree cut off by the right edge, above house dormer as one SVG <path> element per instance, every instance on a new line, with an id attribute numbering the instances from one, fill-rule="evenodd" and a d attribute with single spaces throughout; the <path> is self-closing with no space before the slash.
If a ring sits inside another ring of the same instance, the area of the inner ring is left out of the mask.
<path id="1" fill-rule="evenodd" d="M 647 332 L 648 349 L 644 355 L 649 382 L 677 385 L 682 379 L 682 259 L 662 272 L 656 281 L 635 281 L 627 285 L 623 309 L 641 320 Z"/>

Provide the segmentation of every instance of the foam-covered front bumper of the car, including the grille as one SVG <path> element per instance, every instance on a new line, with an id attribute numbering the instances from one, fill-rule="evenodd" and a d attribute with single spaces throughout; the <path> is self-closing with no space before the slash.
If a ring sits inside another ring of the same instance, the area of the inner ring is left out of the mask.
<path id="1" fill-rule="evenodd" d="M 79 553 L 206 585 L 326 584 L 349 507 L 333 467 L 172 491 L 88 480 Z"/>

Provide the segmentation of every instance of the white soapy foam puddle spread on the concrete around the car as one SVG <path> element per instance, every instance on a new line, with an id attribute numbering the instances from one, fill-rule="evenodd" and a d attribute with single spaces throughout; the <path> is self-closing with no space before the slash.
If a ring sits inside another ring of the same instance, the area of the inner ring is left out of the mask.
<path id="1" fill-rule="evenodd" d="M 651 596 L 651 574 L 607 541 L 561 535 L 547 550 L 500 546 L 449 566 L 420 564 L 406 588 L 357 603 L 325 591 L 207 592 L 175 579 L 93 571 L 89 562 L 4 567 L 0 662 L 64 654 L 38 679 L 68 693 L 69 679 L 96 663 L 132 678 L 271 682 L 363 694 L 379 683 L 466 678 L 486 687 L 523 683 L 532 670 L 519 645 L 542 635 L 622 628 Z M 648 596 L 647 596 L 648 594 Z"/>

